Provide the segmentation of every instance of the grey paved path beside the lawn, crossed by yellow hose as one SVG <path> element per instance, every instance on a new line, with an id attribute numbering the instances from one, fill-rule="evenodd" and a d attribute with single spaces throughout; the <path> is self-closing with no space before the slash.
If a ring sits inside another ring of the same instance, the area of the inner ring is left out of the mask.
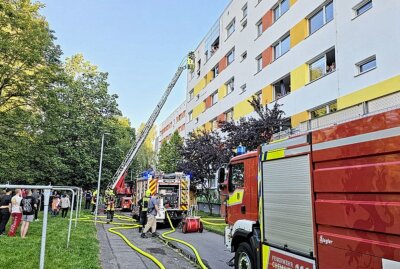
<path id="1" fill-rule="evenodd" d="M 103 269 L 157 269 L 150 259 L 131 249 L 118 235 L 107 231 L 112 225 L 97 226 L 97 237 L 100 241 L 100 260 Z M 134 245 L 155 256 L 165 268 L 195 268 L 185 257 L 162 243 L 158 238 L 140 238 L 137 229 L 121 230 Z"/>

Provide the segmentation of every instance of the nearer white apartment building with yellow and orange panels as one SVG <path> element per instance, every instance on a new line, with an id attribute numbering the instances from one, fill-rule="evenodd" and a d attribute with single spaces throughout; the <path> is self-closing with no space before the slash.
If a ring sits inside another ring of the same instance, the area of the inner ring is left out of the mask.
<path id="1" fill-rule="evenodd" d="M 255 94 L 298 127 L 400 91 L 398 14 L 398 0 L 231 1 L 195 50 L 185 132 L 252 115 Z"/>

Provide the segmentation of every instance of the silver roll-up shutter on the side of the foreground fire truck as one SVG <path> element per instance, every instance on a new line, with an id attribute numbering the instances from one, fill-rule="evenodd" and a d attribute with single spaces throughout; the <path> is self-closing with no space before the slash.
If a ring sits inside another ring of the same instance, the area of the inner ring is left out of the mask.
<path id="1" fill-rule="evenodd" d="M 304 255 L 314 252 L 309 155 L 263 163 L 267 243 Z"/>

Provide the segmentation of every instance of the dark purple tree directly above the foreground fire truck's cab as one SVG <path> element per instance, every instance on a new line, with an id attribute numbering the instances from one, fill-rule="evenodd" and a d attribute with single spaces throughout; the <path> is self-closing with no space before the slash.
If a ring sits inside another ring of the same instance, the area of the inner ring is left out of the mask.
<path id="1" fill-rule="evenodd" d="M 273 108 L 263 106 L 258 97 L 253 96 L 249 101 L 258 118 L 241 118 L 238 122 L 221 123 L 221 131 L 226 134 L 227 147 L 231 150 L 238 146 L 245 146 L 248 150 L 255 150 L 263 143 L 268 143 L 272 135 L 287 128 L 287 121 L 281 105 L 275 103 Z"/>

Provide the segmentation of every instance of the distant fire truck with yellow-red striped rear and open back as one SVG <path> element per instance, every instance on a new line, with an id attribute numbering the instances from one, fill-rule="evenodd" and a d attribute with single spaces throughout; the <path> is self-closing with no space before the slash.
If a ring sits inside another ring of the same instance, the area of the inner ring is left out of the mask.
<path id="1" fill-rule="evenodd" d="M 184 173 L 171 174 L 153 172 L 144 174 L 136 180 L 136 195 L 133 217 L 139 217 L 138 201 L 142 199 L 147 190 L 151 195 L 159 195 L 160 214 L 156 216 L 157 222 L 168 222 L 165 212 L 169 213 L 174 224 L 179 223 L 189 208 L 190 179 Z"/>

